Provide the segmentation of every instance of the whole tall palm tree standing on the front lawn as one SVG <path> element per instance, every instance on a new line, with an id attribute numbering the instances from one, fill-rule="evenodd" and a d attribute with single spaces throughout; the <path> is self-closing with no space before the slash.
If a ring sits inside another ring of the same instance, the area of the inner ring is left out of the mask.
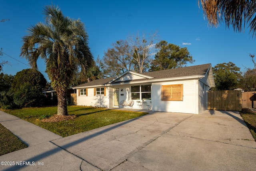
<path id="1" fill-rule="evenodd" d="M 36 61 L 46 63 L 46 73 L 58 98 L 58 115 L 67 115 L 66 95 L 76 69 L 85 74 L 93 62 L 88 47 L 88 35 L 80 20 L 65 17 L 55 6 L 46 6 L 43 14 L 46 23 L 28 28 L 22 37 L 21 56 L 37 69 Z"/>

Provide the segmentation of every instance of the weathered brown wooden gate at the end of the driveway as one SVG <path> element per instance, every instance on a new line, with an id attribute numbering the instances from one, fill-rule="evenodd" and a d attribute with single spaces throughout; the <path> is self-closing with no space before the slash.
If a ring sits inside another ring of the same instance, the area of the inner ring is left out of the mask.
<path id="1" fill-rule="evenodd" d="M 242 110 L 242 92 L 238 90 L 208 91 L 208 110 Z"/>

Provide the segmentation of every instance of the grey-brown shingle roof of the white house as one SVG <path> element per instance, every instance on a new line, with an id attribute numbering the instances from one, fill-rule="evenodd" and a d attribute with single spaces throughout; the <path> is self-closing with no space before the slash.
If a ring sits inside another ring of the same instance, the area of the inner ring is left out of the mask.
<path id="1" fill-rule="evenodd" d="M 176 68 L 176 69 L 166 69 L 166 70 L 162 70 L 162 71 L 153 71 L 153 72 L 148 72 L 148 73 L 142 73 L 142 75 L 150 76 L 153 78 L 152 79 L 145 78 L 145 79 L 130 80 L 130 82 L 131 81 L 143 81 L 143 80 L 154 80 L 154 79 L 205 75 L 210 66 L 211 66 L 211 64 L 208 63 L 208 64 L 203 64 L 203 65 L 195 65 L 195 66 L 191 66 L 191 67 L 182 67 L 182 68 Z M 75 86 L 73 88 L 76 88 L 76 87 L 78 88 L 78 87 L 83 87 L 83 86 L 104 85 L 104 84 L 109 83 L 113 79 L 115 79 L 115 78 L 112 77 L 112 78 L 107 78 L 107 79 L 99 79 L 99 80 L 91 81 L 89 83 L 84 83 L 79 86 Z M 118 82 L 114 81 L 114 83 L 118 83 Z"/>

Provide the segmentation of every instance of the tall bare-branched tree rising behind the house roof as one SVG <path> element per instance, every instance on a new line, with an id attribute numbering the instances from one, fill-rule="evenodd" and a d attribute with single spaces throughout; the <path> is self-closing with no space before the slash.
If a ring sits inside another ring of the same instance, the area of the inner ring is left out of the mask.
<path id="1" fill-rule="evenodd" d="M 125 71 L 143 73 L 148 71 L 152 56 L 156 54 L 155 43 L 157 33 L 130 35 L 126 40 L 112 43 L 104 53 L 104 57 L 97 59 L 97 65 L 104 77 L 115 77 Z"/>

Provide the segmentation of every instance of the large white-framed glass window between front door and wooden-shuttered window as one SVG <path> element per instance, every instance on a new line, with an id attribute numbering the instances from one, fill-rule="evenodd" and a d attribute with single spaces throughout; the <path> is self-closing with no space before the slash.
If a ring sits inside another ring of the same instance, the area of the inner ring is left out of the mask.
<path id="1" fill-rule="evenodd" d="M 151 100 L 151 85 L 131 87 L 132 100 Z"/>

